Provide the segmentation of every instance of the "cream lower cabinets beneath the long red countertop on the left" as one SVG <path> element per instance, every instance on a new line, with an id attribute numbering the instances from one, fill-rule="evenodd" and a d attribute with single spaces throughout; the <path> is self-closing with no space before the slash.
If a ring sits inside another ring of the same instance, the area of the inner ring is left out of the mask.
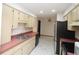
<path id="1" fill-rule="evenodd" d="M 4 52 L 2 55 L 28 55 L 35 47 L 35 37 L 32 37 L 25 42 L 17 45 Z"/>

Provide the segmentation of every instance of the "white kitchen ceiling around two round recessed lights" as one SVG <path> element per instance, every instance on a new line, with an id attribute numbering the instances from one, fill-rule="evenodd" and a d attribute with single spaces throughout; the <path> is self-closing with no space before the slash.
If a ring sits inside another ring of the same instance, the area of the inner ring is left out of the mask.
<path id="1" fill-rule="evenodd" d="M 58 12 L 63 13 L 72 3 L 18 3 L 18 5 L 40 17 L 56 15 Z M 52 9 L 56 10 L 56 12 L 52 13 Z M 40 14 L 41 10 L 44 11 L 43 14 Z"/>

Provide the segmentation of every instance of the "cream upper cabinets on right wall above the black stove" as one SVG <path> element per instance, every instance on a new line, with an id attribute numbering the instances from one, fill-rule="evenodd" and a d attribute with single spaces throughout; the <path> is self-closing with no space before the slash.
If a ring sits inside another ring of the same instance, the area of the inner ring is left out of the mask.
<path id="1" fill-rule="evenodd" d="M 68 14 L 64 16 L 64 19 L 68 20 L 68 30 L 75 30 L 79 27 L 79 5 L 72 9 Z"/>

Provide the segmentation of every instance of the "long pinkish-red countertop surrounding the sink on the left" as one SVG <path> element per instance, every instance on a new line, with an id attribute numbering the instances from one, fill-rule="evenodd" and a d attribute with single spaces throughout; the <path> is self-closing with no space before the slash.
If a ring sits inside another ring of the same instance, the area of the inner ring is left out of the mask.
<path id="1" fill-rule="evenodd" d="M 24 33 L 25 34 L 25 33 Z M 26 33 L 26 35 L 28 35 L 28 39 L 35 36 L 36 33 L 35 32 L 28 32 Z M 28 39 L 16 39 L 16 38 L 12 38 L 10 42 L 5 43 L 3 45 L 0 46 L 0 54 L 2 54 L 3 52 L 17 46 L 18 44 L 28 40 Z"/>

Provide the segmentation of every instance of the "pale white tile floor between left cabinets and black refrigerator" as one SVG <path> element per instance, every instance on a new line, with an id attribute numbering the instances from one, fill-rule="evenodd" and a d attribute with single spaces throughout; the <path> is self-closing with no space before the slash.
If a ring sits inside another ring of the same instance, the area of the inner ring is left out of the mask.
<path id="1" fill-rule="evenodd" d="M 41 36 L 38 46 L 30 55 L 54 55 L 54 39 L 53 37 Z"/>

